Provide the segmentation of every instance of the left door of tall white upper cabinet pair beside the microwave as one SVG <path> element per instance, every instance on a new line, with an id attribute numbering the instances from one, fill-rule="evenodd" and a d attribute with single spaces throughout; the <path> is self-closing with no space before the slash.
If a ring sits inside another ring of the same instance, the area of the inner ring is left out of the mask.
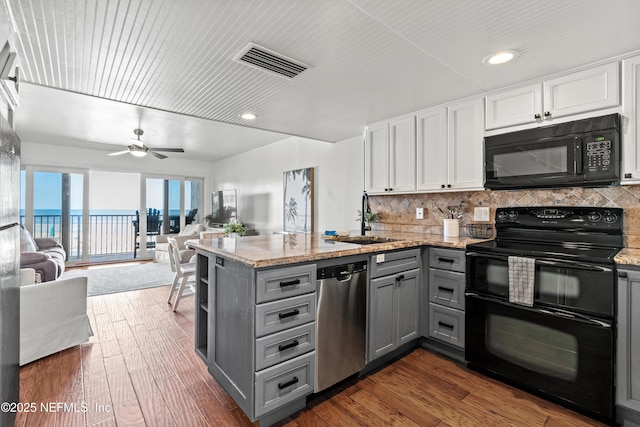
<path id="1" fill-rule="evenodd" d="M 417 121 L 418 190 L 447 186 L 447 109 L 419 113 Z"/>

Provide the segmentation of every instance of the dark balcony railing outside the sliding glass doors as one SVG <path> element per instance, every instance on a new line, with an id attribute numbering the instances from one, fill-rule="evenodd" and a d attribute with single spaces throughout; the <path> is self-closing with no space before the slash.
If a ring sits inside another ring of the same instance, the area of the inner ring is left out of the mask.
<path id="1" fill-rule="evenodd" d="M 89 259 L 133 253 L 136 215 L 89 215 Z M 24 223 L 24 216 L 20 217 Z M 82 259 L 82 215 L 69 216 L 69 239 L 65 247 L 68 259 Z M 33 237 L 62 238 L 61 215 L 34 215 Z"/>

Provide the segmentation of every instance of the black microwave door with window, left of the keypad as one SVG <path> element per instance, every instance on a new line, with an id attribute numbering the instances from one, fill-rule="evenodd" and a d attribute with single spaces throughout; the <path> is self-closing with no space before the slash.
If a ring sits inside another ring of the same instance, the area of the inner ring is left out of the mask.
<path id="1" fill-rule="evenodd" d="M 567 186 L 584 181 L 582 138 L 485 144 L 485 188 Z"/>

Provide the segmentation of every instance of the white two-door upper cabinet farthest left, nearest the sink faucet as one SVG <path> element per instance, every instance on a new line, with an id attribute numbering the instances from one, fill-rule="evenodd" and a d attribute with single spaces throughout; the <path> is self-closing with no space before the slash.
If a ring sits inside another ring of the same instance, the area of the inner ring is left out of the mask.
<path id="1" fill-rule="evenodd" d="M 366 135 L 366 190 L 373 194 L 415 191 L 415 116 L 369 126 Z"/>

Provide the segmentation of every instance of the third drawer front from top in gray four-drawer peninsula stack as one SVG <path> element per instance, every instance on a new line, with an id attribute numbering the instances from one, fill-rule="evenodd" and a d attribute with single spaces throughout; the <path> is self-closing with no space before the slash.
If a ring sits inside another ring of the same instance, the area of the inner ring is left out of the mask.
<path id="1" fill-rule="evenodd" d="M 256 340 L 256 371 L 293 359 L 315 348 L 315 322 L 258 338 Z"/>

